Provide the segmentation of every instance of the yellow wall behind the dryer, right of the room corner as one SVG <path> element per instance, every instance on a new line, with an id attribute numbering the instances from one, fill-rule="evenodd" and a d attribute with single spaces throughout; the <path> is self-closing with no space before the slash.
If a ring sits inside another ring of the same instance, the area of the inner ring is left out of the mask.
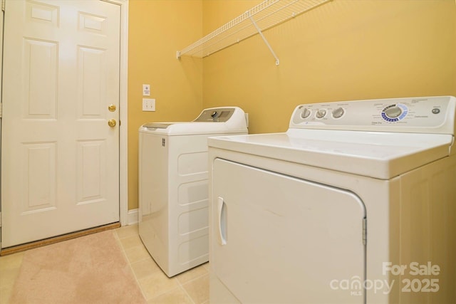
<path id="1" fill-rule="evenodd" d="M 203 1 L 204 32 L 261 1 Z M 214 18 L 217 16 L 217 18 Z M 203 107 L 238 105 L 282 132 L 296 105 L 456 95 L 454 0 L 334 0 L 203 60 Z"/>

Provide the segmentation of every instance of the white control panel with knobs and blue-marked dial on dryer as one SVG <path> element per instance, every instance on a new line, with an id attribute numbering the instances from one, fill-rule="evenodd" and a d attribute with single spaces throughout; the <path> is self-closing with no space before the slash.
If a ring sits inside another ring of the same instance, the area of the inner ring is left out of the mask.
<path id="1" fill-rule="evenodd" d="M 452 96 L 312 103 L 295 108 L 290 128 L 454 134 L 455 108 Z"/>

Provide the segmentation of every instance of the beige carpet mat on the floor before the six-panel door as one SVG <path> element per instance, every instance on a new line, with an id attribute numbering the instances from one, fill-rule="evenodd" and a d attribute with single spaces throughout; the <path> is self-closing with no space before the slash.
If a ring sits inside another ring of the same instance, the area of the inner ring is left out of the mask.
<path id="1" fill-rule="evenodd" d="M 26 251 L 10 303 L 145 303 L 114 234 Z"/>

